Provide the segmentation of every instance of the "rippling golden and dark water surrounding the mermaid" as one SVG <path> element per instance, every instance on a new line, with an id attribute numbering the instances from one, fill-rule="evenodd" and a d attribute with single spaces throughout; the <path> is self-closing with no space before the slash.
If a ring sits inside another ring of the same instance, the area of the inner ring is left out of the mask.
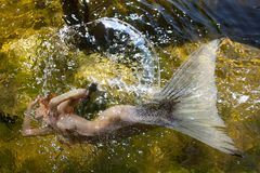
<path id="1" fill-rule="evenodd" d="M 260 1 L 83 2 L 0 0 L 1 172 L 260 172 Z M 113 46 L 109 38 L 95 46 L 62 32 L 101 17 L 117 17 L 138 31 L 114 29 L 112 36 L 118 38 Z M 153 45 L 138 42 L 139 32 Z M 120 138 L 115 133 L 107 143 L 70 147 L 55 136 L 21 135 L 23 112 L 38 94 L 95 81 L 101 92 L 77 110 L 91 119 L 110 105 L 142 102 L 146 88 L 159 81 L 164 85 L 190 53 L 220 36 L 226 39 L 217 61 L 218 109 L 244 158 L 165 128 L 132 129 L 139 133 Z M 127 41 L 119 42 L 123 38 Z"/>

